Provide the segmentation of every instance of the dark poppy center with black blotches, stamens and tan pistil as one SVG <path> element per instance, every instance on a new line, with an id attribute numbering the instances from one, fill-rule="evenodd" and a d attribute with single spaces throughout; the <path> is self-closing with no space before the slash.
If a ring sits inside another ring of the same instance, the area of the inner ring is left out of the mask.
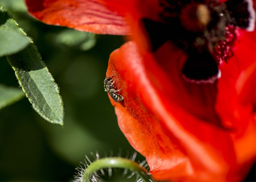
<path id="1" fill-rule="evenodd" d="M 218 66 L 232 57 L 239 29 L 252 29 L 255 21 L 251 0 L 160 0 L 160 6 L 159 22 L 143 19 L 152 50 L 166 41 L 183 49 L 181 74 L 196 83 L 220 77 Z"/>

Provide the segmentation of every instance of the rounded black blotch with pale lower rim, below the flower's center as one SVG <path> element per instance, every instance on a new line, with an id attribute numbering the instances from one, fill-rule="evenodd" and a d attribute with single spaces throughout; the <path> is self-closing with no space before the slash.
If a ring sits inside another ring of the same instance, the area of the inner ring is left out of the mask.
<path id="1" fill-rule="evenodd" d="M 203 49 L 199 51 L 197 49 L 189 49 L 188 60 L 183 67 L 183 74 L 189 79 L 209 79 L 218 73 L 218 66 L 211 54 Z"/>

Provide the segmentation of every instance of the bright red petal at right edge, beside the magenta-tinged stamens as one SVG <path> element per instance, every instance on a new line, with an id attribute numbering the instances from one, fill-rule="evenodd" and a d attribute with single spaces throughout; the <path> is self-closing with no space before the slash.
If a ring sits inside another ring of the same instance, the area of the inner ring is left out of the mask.
<path id="1" fill-rule="evenodd" d="M 242 129 L 247 125 L 255 104 L 256 39 L 254 32 L 241 31 L 233 56 L 220 66 L 216 110 L 225 126 Z M 251 36 L 252 35 L 252 36 Z M 227 107 L 227 105 L 229 105 Z"/>

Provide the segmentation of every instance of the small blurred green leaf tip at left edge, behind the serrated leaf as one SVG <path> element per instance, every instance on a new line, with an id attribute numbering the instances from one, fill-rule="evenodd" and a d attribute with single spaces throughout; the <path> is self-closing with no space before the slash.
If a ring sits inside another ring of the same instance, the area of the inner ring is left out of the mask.
<path id="1" fill-rule="evenodd" d="M 23 97 L 25 94 L 22 89 L 0 84 L 0 109 L 19 101 Z"/>

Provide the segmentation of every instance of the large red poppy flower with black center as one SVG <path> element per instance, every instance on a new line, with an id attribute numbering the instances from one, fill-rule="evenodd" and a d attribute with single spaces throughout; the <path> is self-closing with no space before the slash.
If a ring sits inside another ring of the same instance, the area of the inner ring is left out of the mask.
<path id="1" fill-rule="evenodd" d="M 27 0 L 48 24 L 129 34 L 107 76 L 118 124 L 156 180 L 240 181 L 255 162 L 251 0 Z M 129 28 L 128 26 L 129 25 Z"/>

